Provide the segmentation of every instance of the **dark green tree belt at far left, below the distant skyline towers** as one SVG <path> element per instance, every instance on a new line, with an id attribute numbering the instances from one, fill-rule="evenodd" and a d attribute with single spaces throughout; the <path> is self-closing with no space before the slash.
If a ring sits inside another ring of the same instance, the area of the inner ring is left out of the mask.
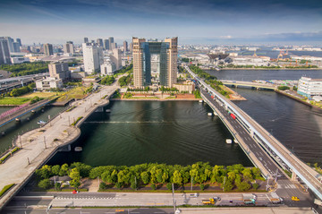
<path id="1" fill-rule="evenodd" d="M 11 72 L 11 76 L 23 76 L 37 73 L 47 73 L 48 63 L 34 62 L 23 64 L 2 64 L 0 70 Z"/>

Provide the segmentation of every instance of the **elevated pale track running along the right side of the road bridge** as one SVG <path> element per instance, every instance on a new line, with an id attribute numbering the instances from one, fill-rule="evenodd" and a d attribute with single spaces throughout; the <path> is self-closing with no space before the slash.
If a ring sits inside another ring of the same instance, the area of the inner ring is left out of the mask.
<path id="1" fill-rule="evenodd" d="M 280 167 L 290 169 L 292 171 L 292 179 L 296 179 L 296 175 L 299 176 L 302 182 L 304 182 L 309 189 L 315 193 L 319 199 L 322 200 L 322 184 L 318 181 L 319 174 L 314 171 L 311 167 L 307 166 L 297 158 L 292 152 L 284 147 L 284 145 L 275 139 L 270 133 L 268 133 L 260 124 L 248 116 L 241 108 L 237 107 L 230 100 L 226 99 L 216 90 L 211 88 L 205 81 L 202 81 L 195 73 L 191 72 L 191 69 L 186 65 L 184 68 L 191 74 L 191 76 L 198 81 L 199 85 L 202 87 L 204 92 L 202 93 L 205 100 L 208 102 L 209 106 L 214 103 L 210 102 L 211 99 L 215 100 L 219 106 L 224 107 L 225 111 L 235 116 L 235 122 L 242 125 L 242 130 L 246 131 L 250 138 L 257 142 L 264 150 L 275 158 L 276 163 Z M 210 98 L 206 97 L 206 92 Z M 223 120 L 223 119 L 222 119 Z M 224 123 L 226 121 L 223 120 Z M 229 127 L 228 127 L 229 128 Z M 238 130 L 237 130 L 238 131 Z M 241 133 L 233 133 L 234 136 L 241 135 Z M 247 148 L 243 148 L 247 151 Z M 255 154 L 258 156 L 258 154 Z M 262 161 L 260 158 L 257 158 Z M 253 160 L 253 162 L 255 162 Z M 260 167 L 262 168 L 262 167 Z"/>

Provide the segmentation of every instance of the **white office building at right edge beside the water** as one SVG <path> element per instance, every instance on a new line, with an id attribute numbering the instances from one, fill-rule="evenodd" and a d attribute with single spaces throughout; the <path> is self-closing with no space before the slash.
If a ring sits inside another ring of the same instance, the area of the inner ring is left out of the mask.
<path id="1" fill-rule="evenodd" d="M 312 79 L 302 76 L 299 80 L 297 92 L 307 98 L 314 96 L 322 97 L 322 79 Z"/>

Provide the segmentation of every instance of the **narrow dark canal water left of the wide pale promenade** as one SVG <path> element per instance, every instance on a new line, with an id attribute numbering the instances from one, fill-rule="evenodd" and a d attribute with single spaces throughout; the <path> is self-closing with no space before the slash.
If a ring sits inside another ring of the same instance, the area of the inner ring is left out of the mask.
<path id="1" fill-rule="evenodd" d="M 12 107 L 0 107 L 0 114 Z M 48 116 L 56 116 L 64 110 L 64 107 L 41 107 L 35 113 L 29 113 L 21 116 L 20 122 L 11 122 L 0 127 L 0 154 L 8 150 L 13 145 L 13 139 L 19 134 L 38 128 L 39 120 L 48 120 Z M 18 145 L 19 146 L 19 145 Z"/>

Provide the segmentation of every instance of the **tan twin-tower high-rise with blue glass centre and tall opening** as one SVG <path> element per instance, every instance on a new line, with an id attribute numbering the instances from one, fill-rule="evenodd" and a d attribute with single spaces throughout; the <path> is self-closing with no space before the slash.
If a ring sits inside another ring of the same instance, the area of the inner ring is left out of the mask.
<path id="1" fill-rule="evenodd" d="M 132 38 L 133 79 L 136 88 L 151 85 L 151 55 L 158 55 L 159 83 L 173 87 L 177 81 L 178 38 L 146 41 Z"/>

